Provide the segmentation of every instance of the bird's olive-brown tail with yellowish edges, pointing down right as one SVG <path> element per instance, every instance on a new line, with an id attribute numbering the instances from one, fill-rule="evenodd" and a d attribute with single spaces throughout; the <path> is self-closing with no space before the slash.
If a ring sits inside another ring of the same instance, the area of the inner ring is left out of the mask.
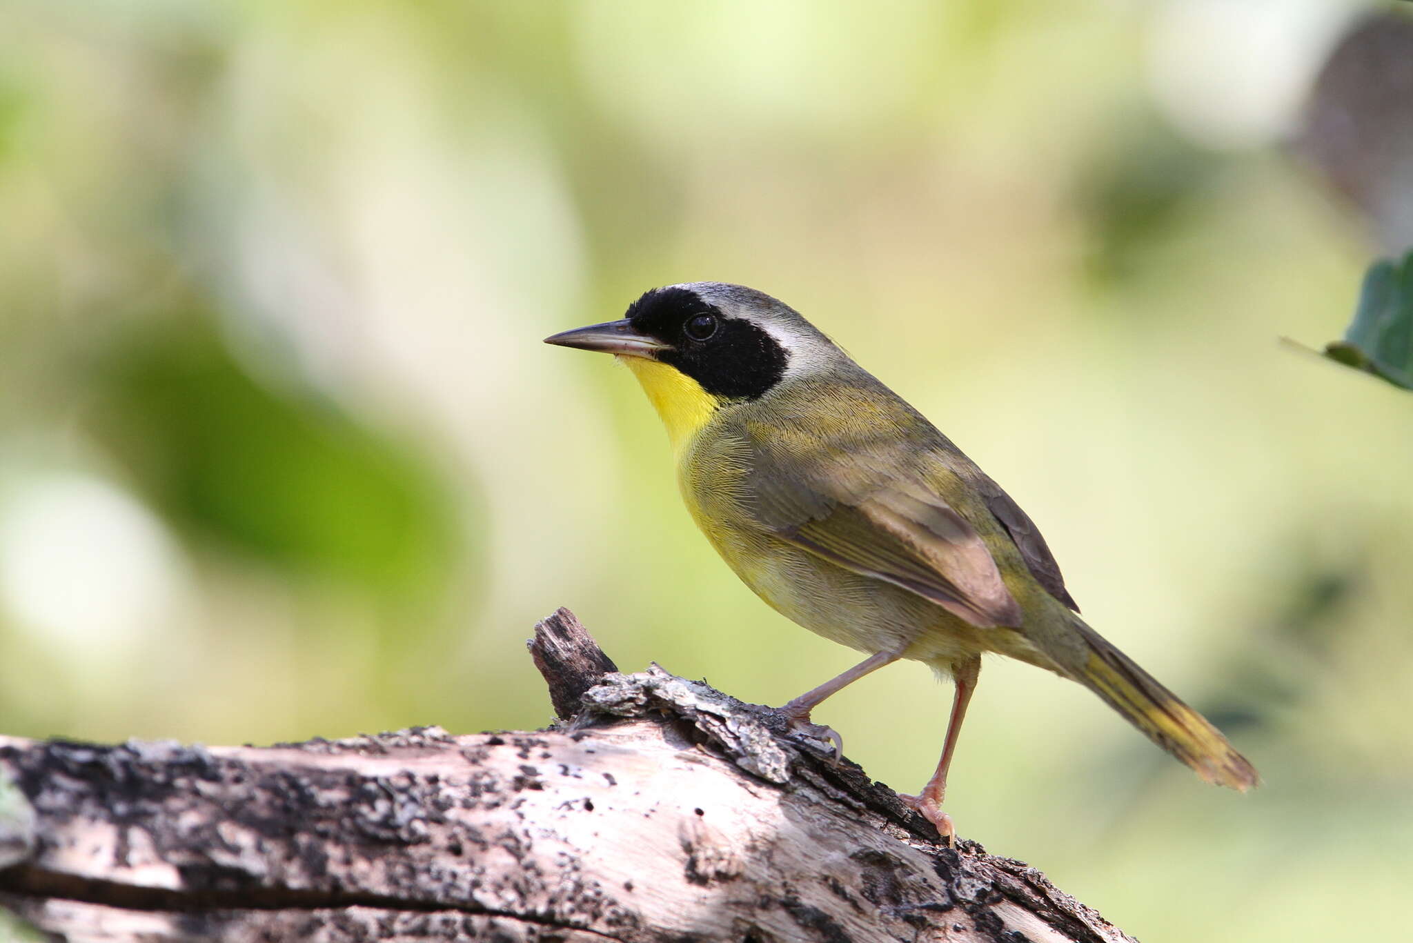
<path id="1" fill-rule="evenodd" d="M 1210 783 L 1246 792 L 1260 782 L 1256 768 L 1222 737 L 1205 717 L 1159 684 L 1129 656 L 1098 632 L 1071 616 L 1081 629 L 1085 649 L 1074 670 L 1080 681 L 1123 714 L 1130 724 L 1169 754 L 1191 766 Z"/>

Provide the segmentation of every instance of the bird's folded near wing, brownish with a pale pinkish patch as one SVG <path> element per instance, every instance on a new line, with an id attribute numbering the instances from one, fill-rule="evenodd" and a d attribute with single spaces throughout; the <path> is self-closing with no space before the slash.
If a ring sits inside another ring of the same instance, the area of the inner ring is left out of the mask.
<path id="1" fill-rule="evenodd" d="M 1020 605 L 981 534 L 921 479 L 808 478 L 757 475 L 756 510 L 776 536 L 978 628 L 1020 625 Z"/>

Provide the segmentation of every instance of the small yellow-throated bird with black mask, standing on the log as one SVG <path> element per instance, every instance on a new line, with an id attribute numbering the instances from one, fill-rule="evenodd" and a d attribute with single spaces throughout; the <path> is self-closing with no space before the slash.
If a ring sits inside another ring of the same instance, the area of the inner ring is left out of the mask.
<path id="1" fill-rule="evenodd" d="M 791 720 L 810 722 L 824 698 L 899 659 L 951 674 L 942 758 L 903 796 L 948 841 L 947 769 L 986 652 L 1084 684 L 1207 782 L 1256 785 L 1215 727 L 1084 623 L 1020 506 L 793 308 L 697 281 L 545 344 L 626 363 L 726 564 L 776 611 L 868 655 L 786 704 Z"/>

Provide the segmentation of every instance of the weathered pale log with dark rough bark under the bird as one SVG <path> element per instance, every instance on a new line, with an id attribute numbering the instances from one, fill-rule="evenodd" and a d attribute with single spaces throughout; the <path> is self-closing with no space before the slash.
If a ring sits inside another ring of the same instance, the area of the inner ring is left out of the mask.
<path id="1" fill-rule="evenodd" d="M 543 731 L 0 738 L 0 908 L 75 942 L 1129 939 L 769 708 L 612 672 L 567 609 L 531 649 Z"/>

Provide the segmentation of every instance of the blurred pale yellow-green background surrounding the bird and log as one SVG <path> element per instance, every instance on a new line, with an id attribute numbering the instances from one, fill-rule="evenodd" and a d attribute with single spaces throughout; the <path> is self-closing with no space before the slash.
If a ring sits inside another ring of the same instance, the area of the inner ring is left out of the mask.
<path id="1" fill-rule="evenodd" d="M 852 664 L 695 533 L 632 377 L 540 344 L 739 281 L 1000 481 L 1266 779 L 991 662 L 959 831 L 1149 943 L 1352 899 L 1395 939 L 1413 397 L 1277 344 L 1396 247 L 1296 146 L 1376 7 L 7 0 L 0 731 L 533 728 L 557 605 L 746 700 Z M 817 720 L 916 790 L 950 697 L 900 664 Z"/>

